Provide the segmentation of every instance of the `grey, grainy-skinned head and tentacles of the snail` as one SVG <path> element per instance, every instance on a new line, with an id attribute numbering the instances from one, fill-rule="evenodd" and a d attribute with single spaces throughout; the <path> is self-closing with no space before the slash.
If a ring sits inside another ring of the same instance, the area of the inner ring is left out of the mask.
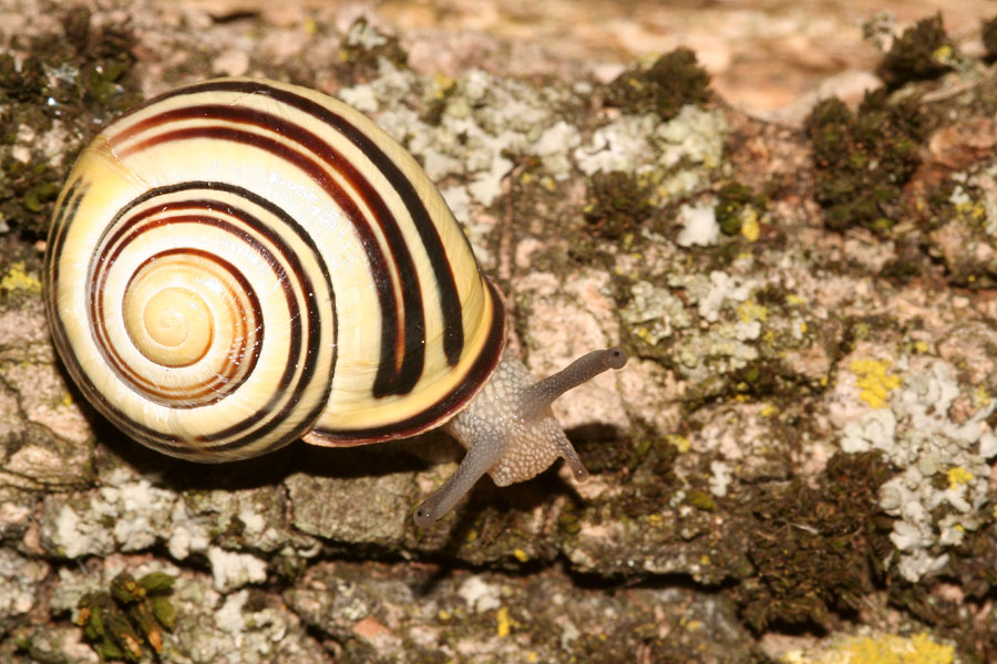
<path id="1" fill-rule="evenodd" d="M 621 349 L 593 351 L 535 382 L 522 362 L 505 353 L 477 396 L 445 425 L 467 454 L 456 471 L 417 508 L 415 523 L 425 528 L 445 515 L 485 473 L 504 487 L 535 477 L 561 457 L 575 479 L 584 481 L 588 471 L 551 404 L 568 390 L 626 363 Z"/>

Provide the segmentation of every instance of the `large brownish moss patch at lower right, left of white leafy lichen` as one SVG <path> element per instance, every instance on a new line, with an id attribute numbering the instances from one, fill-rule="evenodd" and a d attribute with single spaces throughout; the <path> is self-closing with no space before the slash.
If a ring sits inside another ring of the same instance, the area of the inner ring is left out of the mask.
<path id="1" fill-rule="evenodd" d="M 746 547 L 757 572 L 736 591 L 752 629 L 828 629 L 835 612 L 860 608 L 892 549 L 890 519 L 877 516 L 878 488 L 890 475 L 878 453 L 839 453 L 815 488 L 801 479 L 757 495 Z"/>

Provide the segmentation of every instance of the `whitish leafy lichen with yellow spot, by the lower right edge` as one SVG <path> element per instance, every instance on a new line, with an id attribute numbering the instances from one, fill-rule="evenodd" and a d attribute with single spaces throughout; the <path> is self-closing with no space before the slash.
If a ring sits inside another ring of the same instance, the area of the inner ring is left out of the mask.
<path id="1" fill-rule="evenodd" d="M 997 402 L 977 392 L 975 413 L 954 422 L 949 408 L 964 390 L 953 369 L 941 360 L 909 371 L 907 364 L 894 367 L 902 381 L 885 395 L 888 407 L 884 401 L 845 426 L 841 448 L 880 450 L 901 468 L 880 487 L 880 507 L 897 517 L 890 539 L 900 573 L 915 582 L 944 568 L 946 549 L 984 522 L 989 460 L 997 456 L 986 418 Z"/>

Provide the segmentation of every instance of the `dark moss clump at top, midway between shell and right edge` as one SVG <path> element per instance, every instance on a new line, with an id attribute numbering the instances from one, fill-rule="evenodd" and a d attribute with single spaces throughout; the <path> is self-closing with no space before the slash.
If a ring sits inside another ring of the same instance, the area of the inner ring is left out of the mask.
<path id="1" fill-rule="evenodd" d="M 649 69 L 631 69 L 606 86 L 605 103 L 625 113 L 657 113 L 668 121 L 686 104 L 709 100 L 710 75 L 699 66 L 696 54 L 676 49 L 660 56 Z"/>

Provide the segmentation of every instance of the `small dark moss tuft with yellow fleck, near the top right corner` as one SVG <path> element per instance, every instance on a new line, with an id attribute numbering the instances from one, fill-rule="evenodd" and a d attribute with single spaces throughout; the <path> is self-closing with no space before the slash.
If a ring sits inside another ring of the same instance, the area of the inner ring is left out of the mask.
<path id="1" fill-rule="evenodd" d="M 911 81 L 935 79 L 952 69 L 955 46 L 945 33 L 941 12 L 904 31 L 880 63 L 877 73 L 896 89 Z"/>

